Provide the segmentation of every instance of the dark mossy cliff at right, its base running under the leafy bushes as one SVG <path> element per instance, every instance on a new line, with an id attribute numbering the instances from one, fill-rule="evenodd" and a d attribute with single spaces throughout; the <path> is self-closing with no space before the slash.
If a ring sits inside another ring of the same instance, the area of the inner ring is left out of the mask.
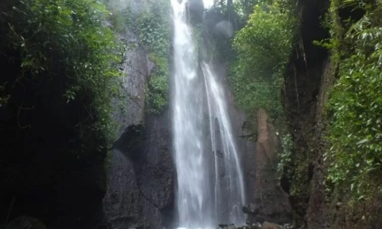
<path id="1" fill-rule="evenodd" d="M 329 37 L 320 21 L 329 5 L 329 0 L 299 3 L 300 44 L 285 76 L 284 107 L 295 146 L 295 170 L 289 184 L 294 219 L 301 228 L 381 228 L 380 196 L 371 203 L 349 202 L 350 193 L 346 188 L 332 190 L 330 185 L 325 186 L 331 165 L 323 160 L 324 136 L 331 114 L 325 114 L 324 106 L 338 66 L 328 50 L 312 42 Z M 341 20 L 360 18 L 362 14 L 362 9 L 338 9 Z M 365 209 L 370 210 L 369 213 Z M 373 214 L 376 215 L 373 220 L 365 219 L 365 215 Z"/>

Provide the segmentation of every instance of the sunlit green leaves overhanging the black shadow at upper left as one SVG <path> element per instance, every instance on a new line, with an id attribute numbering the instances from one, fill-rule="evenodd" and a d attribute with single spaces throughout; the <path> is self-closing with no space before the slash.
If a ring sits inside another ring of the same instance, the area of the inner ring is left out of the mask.
<path id="1" fill-rule="evenodd" d="M 100 1 L 24 0 L 0 20 L 8 48 L 21 58 L 16 82 L 59 80 L 66 103 L 83 104 L 78 112 L 87 115 L 75 128 L 90 152 L 104 149 L 114 137 L 111 98 L 118 93 L 121 55 L 104 26 L 109 15 Z"/>

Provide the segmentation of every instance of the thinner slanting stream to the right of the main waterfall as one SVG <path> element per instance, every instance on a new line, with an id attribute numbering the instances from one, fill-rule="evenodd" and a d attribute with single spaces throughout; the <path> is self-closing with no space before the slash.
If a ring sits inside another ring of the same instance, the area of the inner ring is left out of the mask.
<path id="1" fill-rule="evenodd" d="M 215 215 L 219 222 L 240 225 L 245 221 L 241 210 L 245 201 L 244 182 L 236 142 L 232 135 L 226 96 L 211 66 L 203 62 L 202 69 L 215 162 Z"/>

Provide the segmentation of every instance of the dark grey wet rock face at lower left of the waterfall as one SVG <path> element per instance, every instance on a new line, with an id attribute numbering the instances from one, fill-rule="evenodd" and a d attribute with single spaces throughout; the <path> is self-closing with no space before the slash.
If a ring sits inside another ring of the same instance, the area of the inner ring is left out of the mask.
<path id="1" fill-rule="evenodd" d="M 168 112 L 130 126 L 116 142 L 103 209 L 110 228 L 162 228 L 172 219 L 174 168 Z"/>

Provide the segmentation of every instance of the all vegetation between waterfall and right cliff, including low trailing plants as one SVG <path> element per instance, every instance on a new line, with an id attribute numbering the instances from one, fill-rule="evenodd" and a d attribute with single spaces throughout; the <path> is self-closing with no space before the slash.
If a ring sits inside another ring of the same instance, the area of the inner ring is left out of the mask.
<path id="1" fill-rule="evenodd" d="M 214 59 L 228 65 L 228 76 L 237 105 L 255 128 L 256 115 L 264 109 L 281 132 L 283 151 L 278 170 L 290 166 L 293 142 L 285 123 L 282 105 L 284 74 L 295 46 L 298 20 L 291 1 L 235 1 L 234 13 L 225 1 L 215 1 L 208 19 L 225 18 L 236 27 L 232 38 L 209 36 Z M 220 17 L 216 16 L 221 15 Z M 207 24 L 208 26 L 208 24 Z M 210 29 L 211 30 L 211 29 Z"/>

